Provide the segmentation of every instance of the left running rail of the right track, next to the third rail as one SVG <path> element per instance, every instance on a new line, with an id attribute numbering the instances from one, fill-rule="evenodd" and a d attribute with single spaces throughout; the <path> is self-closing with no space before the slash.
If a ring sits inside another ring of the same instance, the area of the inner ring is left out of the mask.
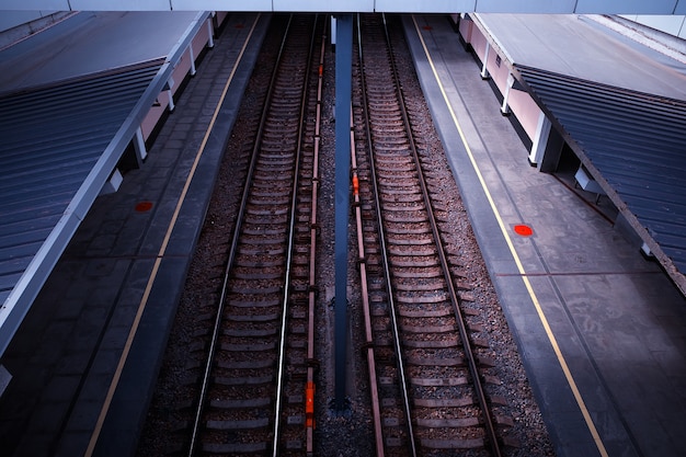
<path id="1" fill-rule="evenodd" d="M 363 93 L 363 98 L 366 98 L 366 93 L 367 93 L 367 89 L 366 89 L 366 80 L 365 80 L 365 71 L 364 71 L 364 61 L 363 61 L 363 44 L 362 44 L 362 26 L 361 26 L 361 21 L 359 21 L 359 14 L 357 14 L 357 46 L 358 46 L 358 57 L 359 57 L 359 75 L 361 75 L 361 85 L 362 85 L 362 93 Z M 374 145 L 373 139 L 371 139 L 371 126 L 369 123 L 369 113 L 367 110 L 367 103 L 362 103 L 362 108 L 364 112 L 364 119 L 365 119 L 365 132 L 367 134 L 367 145 L 369 145 L 369 148 L 371 148 L 371 145 Z M 369 169 L 371 172 L 371 176 L 376 176 L 376 165 L 374 164 L 374 151 L 369 151 L 371 160 L 369 160 Z M 401 391 L 402 391 L 402 400 L 403 400 L 403 407 L 404 407 L 404 412 L 405 412 L 405 416 L 408 418 L 407 421 L 407 426 L 408 426 L 408 438 L 410 441 L 410 452 L 412 453 L 413 457 L 416 457 L 418 453 L 416 453 L 416 443 L 414 441 L 414 431 L 413 431 L 413 426 L 412 426 L 412 414 L 411 414 L 411 407 L 410 407 L 410 396 L 408 393 L 409 389 L 408 389 L 408 385 L 407 385 L 407 376 L 404 373 L 404 363 L 402 361 L 402 350 L 401 350 L 401 343 L 400 343 L 400 335 L 398 334 L 398 317 L 396 315 L 396 304 L 393 300 L 393 295 L 391 294 L 392 290 L 392 281 L 390 277 L 390 264 L 388 261 L 388 256 L 387 256 L 387 245 L 386 245 L 386 230 L 384 228 L 384 225 L 381 224 L 381 221 L 384 220 L 382 218 L 382 213 L 381 213 L 381 202 L 379 199 L 379 188 L 376 182 L 376 179 L 371 179 L 369 180 L 371 181 L 371 185 L 374 188 L 374 196 L 375 196 L 375 206 L 376 206 L 376 216 L 377 216 L 377 220 L 379 221 L 379 244 L 380 244 L 380 253 L 381 253 L 381 261 L 382 261 L 382 266 L 384 266 L 384 274 L 385 274 L 385 281 L 386 281 L 386 286 L 387 286 L 387 290 L 388 293 L 388 301 L 389 301 L 389 315 L 391 318 L 391 329 L 392 329 L 392 333 L 393 333 L 393 346 L 395 346 L 395 351 L 396 351 L 396 359 L 397 359 L 397 367 L 398 367 L 398 372 L 399 372 L 399 379 L 400 379 L 400 387 L 401 387 Z"/>

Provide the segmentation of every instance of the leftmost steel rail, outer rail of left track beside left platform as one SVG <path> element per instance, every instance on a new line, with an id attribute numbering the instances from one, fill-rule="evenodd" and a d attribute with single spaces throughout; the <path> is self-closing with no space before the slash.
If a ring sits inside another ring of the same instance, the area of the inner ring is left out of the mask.
<path id="1" fill-rule="evenodd" d="M 272 100 L 273 94 L 274 94 L 274 85 L 275 85 L 276 77 L 278 75 L 278 68 L 283 58 L 284 47 L 286 45 L 286 39 L 288 37 L 291 22 L 293 22 L 293 14 L 288 19 L 288 24 L 286 25 L 286 30 L 284 32 L 284 38 L 282 41 L 281 47 L 278 50 L 276 65 L 274 66 L 274 71 L 272 72 L 272 78 L 270 81 L 267 94 L 265 96 L 264 107 L 262 111 L 262 117 L 260 118 L 260 126 L 258 128 L 258 133 L 255 137 L 256 140 L 252 149 L 250 165 L 249 165 L 247 178 L 245 178 L 245 185 L 243 187 L 243 194 L 241 196 L 241 203 L 240 203 L 239 212 L 236 218 L 236 227 L 233 229 L 231 248 L 229 250 L 229 258 L 228 258 L 227 265 L 225 269 L 224 281 L 221 285 L 221 295 L 219 297 L 219 304 L 217 307 L 217 316 L 215 318 L 215 323 L 213 327 L 213 334 L 211 334 L 209 350 L 208 350 L 208 356 L 205 363 L 205 369 L 203 372 L 203 380 L 202 380 L 202 386 L 201 386 L 199 400 L 198 400 L 198 404 L 195 411 L 195 418 L 193 421 L 193 431 L 191 433 L 191 442 L 188 444 L 188 453 L 187 453 L 188 457 L 193 457 L 194 455 L 196 455 L 196 450 L 197 450 L 196 447 L 198 444 L 199 424 L 201 424 L 203 412 L 205 410 L 205 400 L 207 397 L 207 390 L 209 388 L 209 375 L 210 375 L 214 359 L 216 356 L 217 343 L 219 341 L 219 335 L 221 332 L 221 318 L 222 318 L 224 309 L 226 307 L 226 296 L 227 296 L 228 288 L 229 288 L 228 285 L 229 285 L 230 272 L 231 272 L 231 269 L 233 267 L 233 262 L 236 260 L 236 254 L 238 252 L 238 241 L 240 238 L 239 236 L 241 233 L 242 224 L 243 224 L 243 219 L 245 216 L 245 207 L 247 207 L 248 198 L 250 195 L 250 186 L 252 182 L 252 176 L 254 174 L 255 165 L 258 162 L 258 151 L 260 150 L 262 133 L 264 132 L 264 126 L 267 119 L 270 101 Z"/>

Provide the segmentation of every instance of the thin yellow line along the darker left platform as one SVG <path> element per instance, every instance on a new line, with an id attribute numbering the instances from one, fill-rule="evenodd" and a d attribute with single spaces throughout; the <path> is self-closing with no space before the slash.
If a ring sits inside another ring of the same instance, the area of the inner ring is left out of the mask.
<path id="1" fill-rule="evenodd" d="M 112 379 L 112 382 L 110 384 L 110 389 L 107 390 L 105 402 L 102 409 L 100 410 L 100 415 L 98 418 L 98 422 L 95 423 L 95 429 L 93 430 L 93 434 L 91 435 L 91 441 L 88 444 L 88 449 L 85 450 L 87 457 L 92 456 L 95 449 L 95 444 L 98 443 L 98 438 L 100 437 L 100 433 L 102 432 L 102 426 L 103 426 L 103 423 L 105 422 L 105 416 L 107 415 L 110 405 L 112 404 L 114 392 L 116 391 L 117 385 L 119 384 L 119 378 L 122 377 L 124 365 L 126 364 L 126 359 L 128 357 L 128 353 L 130 352 L 134 338 L 136 336 L 136 332 L 138 331 L 138 325 L 140 324 L 142 312 L 145 311 L 146 306 L 148 304 L 148 298 L 150 297 L 150 290 L 152 290 L 152 285 L 155 284 L 155 279 L 157 278 L 157 274 L 160 269 L 160 264 L 162 263 L 162 258 L 164 255 L 164 252 L 167 251 L 167 245 L 169 244 L 171 233 L 174 229 L 174 226 L 176 225 L 176 219 L 179 218 L 179 214 L 181 213 L 181 207 L 183 206 L 186 194 L 188 192 L 188 187 L 191 186 L 191 181 L 193 181 L 193 176 L 195 175 L 195 170 L 197 169 L 201 158 L 203 157 L 203 152 L 205 151 L 205 146 L 207 145 L 207 140 L 209 139 L 209 134 L 211 133 L 215 122 L 217 121 L 217 116 L 219 115 L 221 103 L 224 102 L 224 99 L 226 98 L 226 94 L 229 90 L 229 84 L 231 84 L 231 81 L 233 80 L 233 77 L 238 69 L 238 65 L 241 62 L 245 48 L 248 47 L 248 43 L 250 43 L 250 38 L 252 37 L 252 34 L 258 25 L 258 21 L 260 20 L 260 16 L 261 14 L 258 14 L 258 16 L 255 18 L 255 21 L 252 24 L 252 27 L 250 30 L 250 34 L 248 35 L 245 43 L 243 43 L 243 47 L 241 48 L 241 52 L 238 55 L 238 58 L 236 59 L 236 64 L 233 65 L 231 75 L 229 75 L 229 79 L 227 80 L 224 87 L 224 91 L 221 92 L 221 98 L 219 99 L 219 102 L 217 103 L 217 107 L 215 108 L 215 113 L 211 116 L 209 126 L 207 127 L 207 130 L 205 132 L 205 137 L 203 138 L 203 142 L 201 144 L 197 150 L 197 153 L 195 156 L 195 161 L 193 162 L 193 167 L 191 167 L 191 171 L 188 172 L 188 176 L 186 178 L 186 182 L 185 182 L 185 185 L 183 186 L 183 191 L 181 192 L 181 195 L 179 196 L 179 201 L 176 202 L 176 208 L 171 218 L 171 221 L 169 222 L 169 227 L 167 228 L 167 235 L 164 236 L 164 240 L 162 241 L 162 245 L 160 247 L 160 251 L 157 255 L 157 260 L 155 261 L 155 266 L 152 267 L 152 272 L 150 273 L 150 277 L 148 278 L 146 290 L 142 295 L 142 298 L 140 299 L 140 304 L 138 305 L 138 311 L 136 312 L 136 318 L 134 319 L 132 329 L 128 332 L 128 338 L 126 339 L 124 351 L 122 352 L 122 356 L 119 357 L 119 363 L 117 365 L 116 372 L 114 373 L 114 378 Z"/>

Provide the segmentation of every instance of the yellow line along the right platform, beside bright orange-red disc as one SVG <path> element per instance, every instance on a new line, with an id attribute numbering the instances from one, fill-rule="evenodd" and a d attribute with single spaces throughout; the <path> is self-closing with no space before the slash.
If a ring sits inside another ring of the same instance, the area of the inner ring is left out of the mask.
<path id="1" fill-rule="evenodd" d="M 498 210 L 498 207 L 495 206 L 495 202 L 493 201 L 493 197 L 491 196 L 491 192 L 489 191 L 489 187 L 485 183 L 485 180 L 483 179 L 483 175 L 481 174 L 481 170 L 479 169 L 479 165 L 477 164 L 477 161 L 475 160 L 473 153 L 471 152 L 471 148 L 469 147 L 469 144 L 467 142 L 467 138 L 465 137 L 462 128 L 460 127 L 460 124 L 457 122 L 457 116 L 455 114 L 455 111 L 453 111 L 453 106 L 450 106 L 448 96 L 445 92 L 443 83 L 441 82 L 441 79 L 438 78 L 438 72 L 436 71 L 434 61 L 431 58 L 431 55 L 428 54 L 428 49 L 426 48 L 426 43 L 424 42 L 424 37 L 422 36 L 422 32 L 420 31 L 419 24 L 416 23 L 416 19 L 414 18 L 414 15 L 412 15 L 412 21 L 414 22 L 416 34 L 420 41 L 422 42 L 422 47 L 424 48 L 424 54 L 426 54 L 426 58 L 428 59 L 428 64 L 431 65 L 431 69 L 434 73 L 434 78 L 436 79 L 436 82 L 438 83 L 438 87 L 441 88 L 441 93 L 443 94 L 445 104 L 448 107 L 448 111 L 450 112 L 450 116 L 453 117 L 453 123 L 457 127 L 457 132 L 459 133 L 460 138 L 462 139 L 465 149 L 467 149 L 467 155 L 469 156 L 471 165 L 473 167 L 475 172 L 477 173 L 477 176 L 479 178 L 479 182 L 481 183 L 481 187 L 483 188 L 483 192 L 485 193 L 489 204 L 491 205 L 491 209 L 493 210 L 493 215 L 495 216 L 495 219 L 498 220 L 498 225 L 500 226 L 501 232 L 503 233 L 503 237 L 505 238 L 505 241 L 507 242 L 510 252 L 512 253 L 512 256 L 514 258 L 514 261 L 517 265 L 517 270 L 519 271 L 522 275 L 522 281 L 524 282 L 524 285 L 526 286 L 526 289 L 529 293 L 529 297 L 531 298 L 531 301 L 534 302 L 534 306 L 536 307 L 536 311 L 538 312 L 540 322 L 542 323 L 544 329 L 546 330 L 546 334 L 548 335 L 550 345 L 552 346 L 552 350 L 554 351 L 558 357 L 560 367 L 562 368 L 562 372 L 564 373 L 564 377 L 567 378 L 567 381 L 570 388 L 572 389 L 572 392 L 574 393 L 574 398 L 576 399 L 576 404 L 579 404 L 579 409 L 581 410 L 581 413 L 583 414 L 584 420 L 586 421 L 586 425 L 588 426 L 588 431 L 591 432 L 591 435 L 593 435 L 593 439 L 595 441 L 595 445 L 597 446 L 598 452 L 601 453 L 603 457 L 608 457 L 607 450 L 605 449 L 605 445 L 603 444 L 601 435 L 598 434 L 598 431 L 595 427 L 593 419 L 591 418 L 591 414 L 588 413 L 586 403 L 584 402 L 584 399 L 582 398 L 581 392 L 579 391 L 579 387 L 576 386 L 576 382 L 574 381 L 574 377 L 572 376 L 572 373 L 567 364 L 567 361 L 564 359 L 564 356 L 562 355 L 562 351 L 560 350 L 560 346 L 558 345 L 558 341 L 554 338 L 552 330 L 550 329 L 548 319 L 546 318 L 546 315 L 544 313 L 540 302 L 538 301 L 538 297 L 536 296 L 536 293 L 534 292 L 534 287 L 531 287 L 531 283 L 529 282 L 529 278 L 526 276 L 524 266 L 522 265 L 522 262 L 519 261 L 519 255 L 517 254 L 517 251 L 514 244 L 512 243 L 510 233 L 507 232 L 505 224 L 503 222 L 503 219 L 500 215 L 500 212 Z"/>

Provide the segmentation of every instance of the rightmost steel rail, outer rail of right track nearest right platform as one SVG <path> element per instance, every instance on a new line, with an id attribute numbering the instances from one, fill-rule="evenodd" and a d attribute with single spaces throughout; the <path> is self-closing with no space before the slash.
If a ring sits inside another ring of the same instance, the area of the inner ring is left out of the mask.
<path id="1" fill-rule="evenodd" d="M 396 59 L 393 57 L 393 53 L 392 53 L 392 42 L 390 39 L 390 35 L 388 33 L 388 24 L 386 22 L 386 14 L 384 14 L 384 31 L 386 34 L 386 43 L 388 45 L 388 49 L 389 49 L 389 57 L 390 57 L 390 62 L 391 62 L 391 68 L 392 68 L 392 73 L 393 73 L 393 78 L 396 80 L 396 87 L 400 88 L 400 78 L 398 75 L 398 68 L 396 66 Z M 477 367 L 477 361 L 476 361 L 476 356 L 475 356 L 475 352 L 471 346 L 471 342 L 469 339 L 469 334 L 467 331 L 467 323 L 466 323 L 466 319 L 464 317 L 464 313 L 460 309 L 460 298 L 459 295 L 457 294 L 457 290 L 455 288 L 455 284 L 450 277 L 450 269 L 448 265 L 448 260 L 447 260 L 447 254 L 445 252 L 445 249 L 443 247 L 443 242 L 441 241 L 441 233 L 438 232 L 438 225 L 436 222 L 434 213 L 431 210 L 432 208 L 432 204 L 431 204 L 431 197 L 428 195 L 428 191 L 427 191 L 427 185 L 426 185 L 426 181 L 424 178 L 424 173 L 422 173 L 422 165 L 421 165 L 421 160 L 419 157 L 419 153 L 416 151 L 416 145 L 414 142 L 414 138 L 412 135 L 412 128 L 411 128 L 411 124 L 410 124 L 410 117 L 408 115 L 408 110 L 407 110 L 407 105 L 405 105 L 405 100 L 404 96 L 402 95 L 402 90 L 398 89 L 398 99 L 400 100 L 400 110 L 401 110 L 401 114 L 402 114 L 402 118 L 403 118 L 403 123 L 405 126 L 405 130 L 408 133 L 409 139 L 410 139 L 410 148 L 412 151 L 412 157 L 414 159 L 414 162 L 416 164 L 416 170 L 418 170 L 418 175 L 419 175 L 419 182 L 420 185 L 422 187 L 422 194 L 424 197 L 424 205 L 426 206 L 426 213 L 428 215 L 430 221 L 431 221 L 431 228 L 434 235 L 434 239 L 436 241 L 436 247 L 437 247 L 437 251 L 438 251 L 438 258 L 441 260 L 441 265 L 443 267 L 443 272 L 445 275 L 445 281 L 447 283 L 447 287 L 448 287 L 448 292 L 449 292 L 449 296 L 450 296 L 450 301 L 453 302 L 453 308 L 455 310 L 455 313 L 457 316 L 457 323 L 458 323 L 458 331 L 460 334 L 460 338 L 462 340 L 462 345 L 465 347 L 465 355 L 466 358 L 468 361 L 468 366 L 469 366 L 469 373 L 471 374 L 471 377 L 473 379 L 473 385 L 475 385 L 475 390 L 479 400 L 479 405 L 481 407 L 482 413 L 483 413 L 483 420 L 484 420 L 484 427 L 485 427 L 485 432 L 487 432 L 487 436 L 488 436 L 488 441 L 489 444 L 491 446 L 491 453 L 493 454 L 494 457 L 500 457 L 502 455 L 501 448 L 500 448 L 500 444 L 498 441 L 498 435 L 495 433 L 495 426 L 493 424 L 493 419 L 491 418 L 491 413 L 489 410 L 489 405 L 488 405 L 488 401 L 485 398 L 485 391 L 483 388 L 483 384 L 481 382 L 481 377 L 479 376 L 479 369 Z"/>

